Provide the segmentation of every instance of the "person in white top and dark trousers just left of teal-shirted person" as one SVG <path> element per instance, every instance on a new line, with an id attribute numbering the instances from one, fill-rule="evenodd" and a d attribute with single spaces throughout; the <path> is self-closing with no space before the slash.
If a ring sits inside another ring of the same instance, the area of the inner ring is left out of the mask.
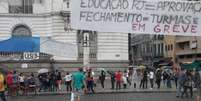
<path id="1" fill-rule="evenodd" d="M 66 73 L 66 76 L 64 77 L 64 80 L 65 80 L 65 84 L 66 84 L 66 91 L 72 91 L 72 86 L 71 86 L 71 82 L 72 82 L 72 75 L 67 72 Z"/>

